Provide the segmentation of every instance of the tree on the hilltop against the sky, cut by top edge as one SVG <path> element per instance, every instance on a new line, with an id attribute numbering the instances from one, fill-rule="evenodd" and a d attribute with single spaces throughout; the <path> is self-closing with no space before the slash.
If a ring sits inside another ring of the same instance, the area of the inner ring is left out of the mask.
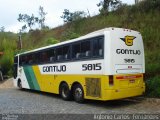
<path id="1" fill-rule="evenodd" d="M 97 6 L 101 7 L 99 9 L 101 14 L 107 14 L 109 10 L 115 10 L 121 4 L 122 2 L 120 0 L 103 0 L 103 1 L 100 1 L 100 3 L 98 3 Z"/>

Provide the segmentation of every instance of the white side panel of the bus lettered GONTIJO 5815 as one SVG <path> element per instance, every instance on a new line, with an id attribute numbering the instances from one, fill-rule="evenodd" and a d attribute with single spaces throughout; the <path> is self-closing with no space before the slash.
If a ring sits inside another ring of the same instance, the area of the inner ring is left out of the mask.
<path id="1" fill-rule="evenodd" d="M 83 65 L 99 64 L 101 70 L 83 70 Z M 62 70 L 61 66 L 65 66 Z M 103 75 L 104 74 L 104 60 L 87 60 L 77 62 L 65 62 L 55 64 L 38 65 L 41 74 L 45 75 Z"/>

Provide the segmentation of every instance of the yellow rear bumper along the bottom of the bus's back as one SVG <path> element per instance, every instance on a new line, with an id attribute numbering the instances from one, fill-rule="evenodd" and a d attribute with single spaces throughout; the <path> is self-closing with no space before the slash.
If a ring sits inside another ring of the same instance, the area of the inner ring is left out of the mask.
<path id="1" fill-rule="evenodd" d="M 116 100 L 128 97 L 134 97 L 144 94 L 145 86 L 127 88 L 127 89 L 114 89 L 114 90 L 104 90 L 102 95 L 102 100 Z"/>

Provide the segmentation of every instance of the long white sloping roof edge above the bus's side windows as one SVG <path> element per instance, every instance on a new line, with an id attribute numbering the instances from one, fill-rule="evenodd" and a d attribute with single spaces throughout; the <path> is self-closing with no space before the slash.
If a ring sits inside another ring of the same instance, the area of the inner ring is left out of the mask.
<path id="1" fill-rule="evenodd" d="M 30 50 L 30 51 L 27 51 L 27 52 L 23 52 L 23 53 L 20 53 L 20 54 L 17 54 L 17 55 L 32 53 L 32 52 L 44 50 L 44 49 L 47 49 L 47 48 L 56 47 L 56 46 L 59 46 L 59 45 L 64 45 L 64 44 L 67 44 L 67 43 L 76 42 L 76 41 L 78 41 L 78 40 L 83 40 L 83 39 L 87 39 L 87 38 L 91 38 L 91 37 L 96 37 L 96 36 L 104 35 L 104 32 L 106 32 L 106 31 L 111 31 L 111 30 L 116 30 L 116 29 L 123 29 L 123 28 L 115 28 L 115 27 L 104 28 L 104 29 L 101 29 L 101 30 L 97 30 L 97 31 L 88 33 L 88 34 L 86 34 L 86 35 L 84 35 L 84 36 L 81 36 L 81 37 L 79 37 L 79 38 L 71 39 L 71 40 L 64 41 L 64 42 L 61 42 L 61 43 L 57 43 L 57 44 L 54 44 L 54 45 L 49 45 L 49 46 L 37 48 L 37 49 Z M 132 30 L 132 31 L 133 31 L 133 30 Z M 16 55 L 16 56 L 17 56 L 17 55 Z"/>

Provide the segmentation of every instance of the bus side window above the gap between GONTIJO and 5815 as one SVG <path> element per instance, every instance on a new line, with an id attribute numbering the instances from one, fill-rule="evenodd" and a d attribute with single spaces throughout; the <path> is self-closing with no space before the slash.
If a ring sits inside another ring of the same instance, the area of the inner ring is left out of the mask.
<path id="1" fill-rule="evenodd" d="M 72 58 L 79 59 L 81 58 L 81 44 L 75 43 L 72 45 Z"/>

